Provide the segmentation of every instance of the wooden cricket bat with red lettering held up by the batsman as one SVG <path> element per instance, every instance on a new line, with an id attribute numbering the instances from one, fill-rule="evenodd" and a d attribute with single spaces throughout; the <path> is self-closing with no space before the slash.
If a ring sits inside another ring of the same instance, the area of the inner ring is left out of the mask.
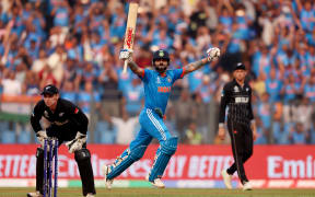
<path id="1" fill-rule="evenodd" d="M 139 4 L 135 3 L 135 2 L 131 2 L 129 4 L 127 27 L 126 27 L 125 42 L 124 42 L 124 49 L 132 49 L 133 48 L 138 7 L 139 7 Z M 128 61 L 125 60 L 124 70 L 122 70 L 124 73 L 127 72 L 127 63 L 128 63 Z"/>

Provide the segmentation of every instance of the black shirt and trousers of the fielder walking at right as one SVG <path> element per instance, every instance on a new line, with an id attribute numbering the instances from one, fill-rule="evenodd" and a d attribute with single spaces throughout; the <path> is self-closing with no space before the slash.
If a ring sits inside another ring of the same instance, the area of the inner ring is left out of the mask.
<path id="1" fill-rule="evenodd" d="M 237 171 L 242 183 L 248 182 L 244 163 L 253 154 L 253 131 L 250 120 L 254 119 L 252 108 L 252 89 L 248 83 L 241 86 L 236 80 L 226 83 L 221 95 L 220 124 L 224 124 L 228 106 L 228 129 L 231 137 L 235 162 L 226 170 L 228 174 Z"/>

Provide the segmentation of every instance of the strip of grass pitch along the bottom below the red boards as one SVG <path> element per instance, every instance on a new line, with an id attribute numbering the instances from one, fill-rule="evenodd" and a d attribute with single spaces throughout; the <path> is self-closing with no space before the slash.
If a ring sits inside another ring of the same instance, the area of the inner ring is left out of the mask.
<path id="1" fill-rule="evenodd" d="M 0 187 L 0 197 L 25 197 L 30 188 Z M 315 197 L 315 189 L 192 189 L 192 188 L 96 188 L 96 197 Z M 82 196 L 81 188 L 59 188 L 58 197 Z"/>

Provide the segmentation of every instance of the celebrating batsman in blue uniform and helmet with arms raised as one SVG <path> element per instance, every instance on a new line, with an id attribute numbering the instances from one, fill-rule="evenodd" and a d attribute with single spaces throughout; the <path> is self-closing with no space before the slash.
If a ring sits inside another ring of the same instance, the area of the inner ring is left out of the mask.
<path id="1" fill-rule="evenodd" d="M 191 62 L 182 69 L 167 70 L 170 66 L 170 56 L 166 50 L 160 49 L 153 53 L 152 66 L 154 70 L 142 69 L 131 59 L 132 50 L 124 49 L 120 51 L 119 59 L 127 60 L 128 67 L 144 83 L 144 108 L 139 116 L 141 129 L 136 139 L 130 143 L 129 148 L 120 154 L 112 165 L 103 167 L 105 174 L 105 184 L 107 188 L 112 188 L 115 177 L 121 174 L 133 162 L 140 160 L 149 143 L 153 138 L 160 142 L 160 147 L 155 154 L 155 160 L 147 179 L 159 188 L 165 185 L 161 181 L 163 173 L 171 157 L 177 149 L 177 137 L 172 136 L 166 128 L 163 116 L 167 105 L 167 101 L 172 91 L 172 85 L 177 79 L 185 74 L 200 69 L 210 61 L 217 60 L 220 56 L 220 49 L 209 48 L 207 57 Z"/>

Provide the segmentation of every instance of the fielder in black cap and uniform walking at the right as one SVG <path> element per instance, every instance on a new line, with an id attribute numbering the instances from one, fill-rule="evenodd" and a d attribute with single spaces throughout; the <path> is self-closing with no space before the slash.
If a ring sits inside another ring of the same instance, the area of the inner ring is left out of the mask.
<path id="1" fill-rule="evenodd" d="M 245 82 L 246 69 L 238 62 L 233 71 L 234 79 L 226 83 L 221 95 L 219 138 L 224 139 L 224 118 L 228 106 L 228 130 L 231 137 L 234 163 L 222 171 L 226 188 L 232 189 L 232 175 L 237 171 L 243 190 L 250 190 L 244 163 L 253 154 L 253 141 L 256 139 L 256 126 L 252 108 L 252 88 Z"/>

